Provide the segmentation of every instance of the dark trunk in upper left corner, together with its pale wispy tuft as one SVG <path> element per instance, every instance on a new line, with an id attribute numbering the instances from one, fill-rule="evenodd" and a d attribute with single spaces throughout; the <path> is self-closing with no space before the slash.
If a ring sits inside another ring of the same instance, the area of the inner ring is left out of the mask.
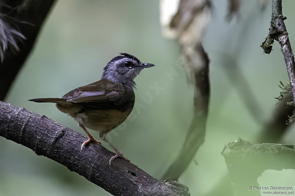
<path id="1" fill-rule="evenodd" d="M 54 0 L 0 1 L 0 101 L 30 54 Z M 41 65 L 42 66 L 42 65 Z"/>

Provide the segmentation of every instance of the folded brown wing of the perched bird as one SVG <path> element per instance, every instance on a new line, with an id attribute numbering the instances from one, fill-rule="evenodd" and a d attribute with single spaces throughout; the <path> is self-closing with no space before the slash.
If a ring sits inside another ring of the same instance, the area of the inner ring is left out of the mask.
<path id="1" fill-rule="evenodd" d="M 119 84 L 109 80 L 99 80 L 83 87 L 78 87 L 62 98 L 67 102 L 82 104 L 96 109 L 116 109 L 125 103 L 120 96 L 122 89 Z"/>

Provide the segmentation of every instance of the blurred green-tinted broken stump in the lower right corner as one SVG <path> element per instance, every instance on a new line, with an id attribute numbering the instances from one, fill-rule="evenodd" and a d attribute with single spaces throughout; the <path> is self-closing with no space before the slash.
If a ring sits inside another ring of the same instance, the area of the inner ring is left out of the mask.
<path id="1" fill-rule="evenodd" d="M 250 144 L 237 139 L 228 143 L 221 154 L 224 156 L 235 195 L 260 196 L 257 178 L 264 170 L 295 169 L 295 146 L 283 144 Z M 249 190 L 248 188 L 251 189 Z"/>

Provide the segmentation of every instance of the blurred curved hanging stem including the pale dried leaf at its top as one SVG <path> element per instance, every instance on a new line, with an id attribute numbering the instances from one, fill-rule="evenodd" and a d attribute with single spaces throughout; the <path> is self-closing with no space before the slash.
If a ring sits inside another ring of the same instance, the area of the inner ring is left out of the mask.
<path id="1" fill-rule="evenodd" d="M 177 6 L 175 13 L 167 13 L 169 8 Z M 163 34 L 178 40 L 186 57 L 189 81 L 194 85 L 192 122 L 178 156 L 162 176 L 162 179 L 178 180 L 205 140 L 210 94 L 209 59 L 201 38 L 211 15 L 211 1 L 181 0 L 178 5 L 161 1 L 161 14 Z"/>

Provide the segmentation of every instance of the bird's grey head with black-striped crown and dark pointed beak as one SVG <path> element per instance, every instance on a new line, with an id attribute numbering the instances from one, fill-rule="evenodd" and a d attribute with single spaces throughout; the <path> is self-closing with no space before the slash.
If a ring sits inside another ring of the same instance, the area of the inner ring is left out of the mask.
<path id="1" fill-rule="evenodd" d="M 127 53 L 119 53 L 120 56 L 114 57 L 106 67 L 101 79 L 107 79 L 114 83 L 124 84 L 128 88 L 135 87 L 134 78 L 143 68 L 153 67 L 154 64 L 142 63 L 135 56 Z"/>

